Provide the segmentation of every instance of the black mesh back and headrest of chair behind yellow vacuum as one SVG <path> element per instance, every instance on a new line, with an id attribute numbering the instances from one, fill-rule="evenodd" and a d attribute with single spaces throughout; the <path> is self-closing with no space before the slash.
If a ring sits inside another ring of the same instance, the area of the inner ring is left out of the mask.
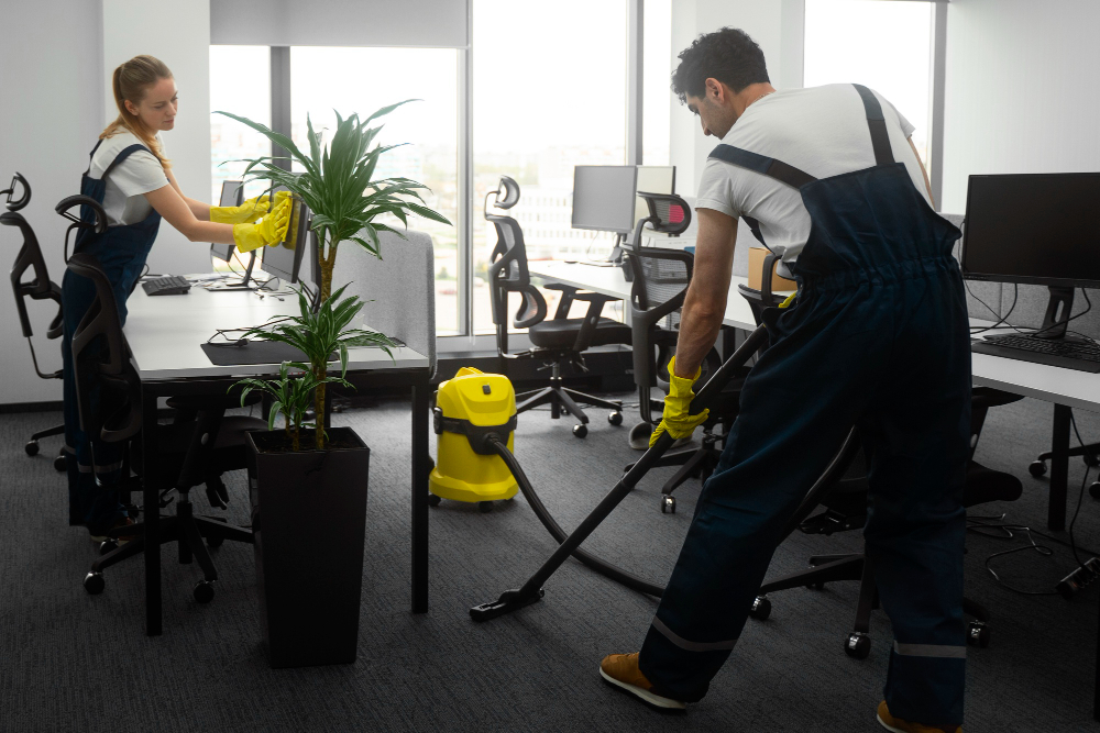
<path id="1" fill-rule="evenodd" d="M 497 209 L 512 209 L 519 201 L 519 184 L 509 176 L 501 177 L 499 187 L 485 197 L 485 220 L 496 227 L 496 245 L 490 255 L 488 277 L 492 299 L 493 323 L 497 332 L 497 349 L 508 352 L 508 293 L 518 292 L 522 297 L 513 319 L 517 329 L 527 329 L 547 316 L 547 302 L 542 293 L 531 285 L 527 269 L 527 248 L 524 231 L 514 218 L 490 212 L 490 199 Z"/>

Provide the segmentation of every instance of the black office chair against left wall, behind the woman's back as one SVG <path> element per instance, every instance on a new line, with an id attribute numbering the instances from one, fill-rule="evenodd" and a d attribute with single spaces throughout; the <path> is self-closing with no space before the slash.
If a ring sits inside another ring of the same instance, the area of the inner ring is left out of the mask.
<path id="1" fill-rule="evenodd" d="M 16 186 L 21 187 L 23 192 L 20 198 L 12 200 Z M 46 271 L 46 260 L 42 256 L 42 248 L 38 246 L 38 238 L 34 235 L 34 230 L 31 229 L 23 214 L 19 213 L 31 201 L 31 187 L 26 182 L 26 179 L 16 173 L 11 180 L 11 186 L 0 191 L 0 196 L 4 195 L 8 197 L 8 211 L 0 214 L 0 224 L 16 226 L 23 235 L 23 246 L 20 248 L 19 255 L 15 256 L 15 264 L 11 268 L 11 289 L 15 293 L 15 310 L 19 312 L 19 324 L 23 330 L 23 337 L 26 338 L 26 345 L 31 348 L 31 360 L 34 364 L 35 374 L 42 379 L 61 379 L 61 369 L 44 374 L 38 368 L 38 357 L 34 352 L 34 342 L 31 341 L 34 336 L 34 329 L 31 326 L 31 318 L 28 314 L 28 299 L 52 300 L 57 303 L 57 314 L 46 329 L 46 338 L 58 338 L 64 330 L 64 324 L 62 323 L 62 289 L 57 284 L 51 281 L 50 274 Z M 23 277 L 28 270 L 31 270 L 33 279 L 24 281 Z M 23 449 L 26 451 L 26 455 L 35 456 L 38 454 L 40 440 L 64 434 L 64 423 L 38 431 L 31 435 L 31 440 Z M 65 470 L 64 447 L 54 457 L 54 468 L 59 471 Z"/>

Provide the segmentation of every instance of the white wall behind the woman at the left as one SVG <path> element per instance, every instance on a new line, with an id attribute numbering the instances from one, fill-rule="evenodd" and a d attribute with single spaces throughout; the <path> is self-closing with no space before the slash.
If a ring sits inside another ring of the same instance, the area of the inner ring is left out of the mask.
<path id="1" fill-rule="evenodd" d="M 210 191 L 210 14 L 208 0 L 35 0 L 4 2 L 0 13 L 0 188 L 23 174 L 32 198 L 23 215 L 34 227 L 51 278 L 61 282 L 65 222 L 54 206 L 80 191 L 80 174 L 106 122 L 114 118 L 108 79 L 136 54 L 164 59 L 180 91 L 177 126 L 165 134 L 184 191 L 205 200 Z M 106 19 L 106 23 L 105 23 Z M 0 227 L 0 262 L 7 270 L 22 244 L 15 229 Z M 153 271 L 205 271 L 207 245 L 186 242 L 164 224 L 150 256 Z M 9 290 L 8 285 L 3 285 Z M 33 303 L 31 319 L 43 370 L 61 368 L 58 341 L 46 341 L 54 315 Z M 59 380 L 35 376 L 11 295 L 0 293 L 0 404 L 61 400 Z"/>

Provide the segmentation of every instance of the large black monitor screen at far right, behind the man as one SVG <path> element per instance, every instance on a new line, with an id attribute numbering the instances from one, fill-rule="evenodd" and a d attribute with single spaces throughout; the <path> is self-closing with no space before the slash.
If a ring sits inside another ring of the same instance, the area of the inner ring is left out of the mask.
<path id="1" fill-rule="evenodd" d="M 970 176 L 963 271 L 976 280 L 1100 287 L 1100 173 Z"/>

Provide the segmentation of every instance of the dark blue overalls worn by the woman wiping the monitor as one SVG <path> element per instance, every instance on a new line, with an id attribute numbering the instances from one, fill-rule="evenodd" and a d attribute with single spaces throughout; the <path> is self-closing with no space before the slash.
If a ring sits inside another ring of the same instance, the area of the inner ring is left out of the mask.
<path id="1" fill-rule="evenodd" d="M 102 141 L 100 141 L 102 142 Z M 99 143 L 91 151 L 96 154 Z M 101 178 L 89 176 L 91 166 L 80 181 L 80 193 L 102 204 L 107 189 L 107 175 L 131 154 L 147 151 L 144 145 L 131 145 L 123 149 L 103 171 Z M 90 207 L 81 207 L 80 219 L 95 222 Z M 102 234 L 91 229 L 80 230 L 76 238 L 75 252 L 95 257 L 107 273 L 114 289 L 119 314 L 123 325 L 127 320 L 127 298 L 138 284 L 145 257 L 156 238 L 161 215 L 155 211 L 136 224 L 109 226 Z M 96 297 L 91 280 L 65 270 L 62 280 L 62 302 L 65 313 L 65 332 L 62 338 L 65 382 L 65 443 L 68 454 L 69 524 L 84 524 L 92 534 L 109 530 L 125 517 L 125 509 L 119 503 L 119 469 L 122 467 L 122 446 L 103 443 L 98 437 L 89 438 L 80 430 L 80 414 L 77 408 L 76 381 L 73 371 L 73 333 L 88 312 Z M 99 409 L 98 390 L 92 388 L 90 402 L 92 410 Z"/>

